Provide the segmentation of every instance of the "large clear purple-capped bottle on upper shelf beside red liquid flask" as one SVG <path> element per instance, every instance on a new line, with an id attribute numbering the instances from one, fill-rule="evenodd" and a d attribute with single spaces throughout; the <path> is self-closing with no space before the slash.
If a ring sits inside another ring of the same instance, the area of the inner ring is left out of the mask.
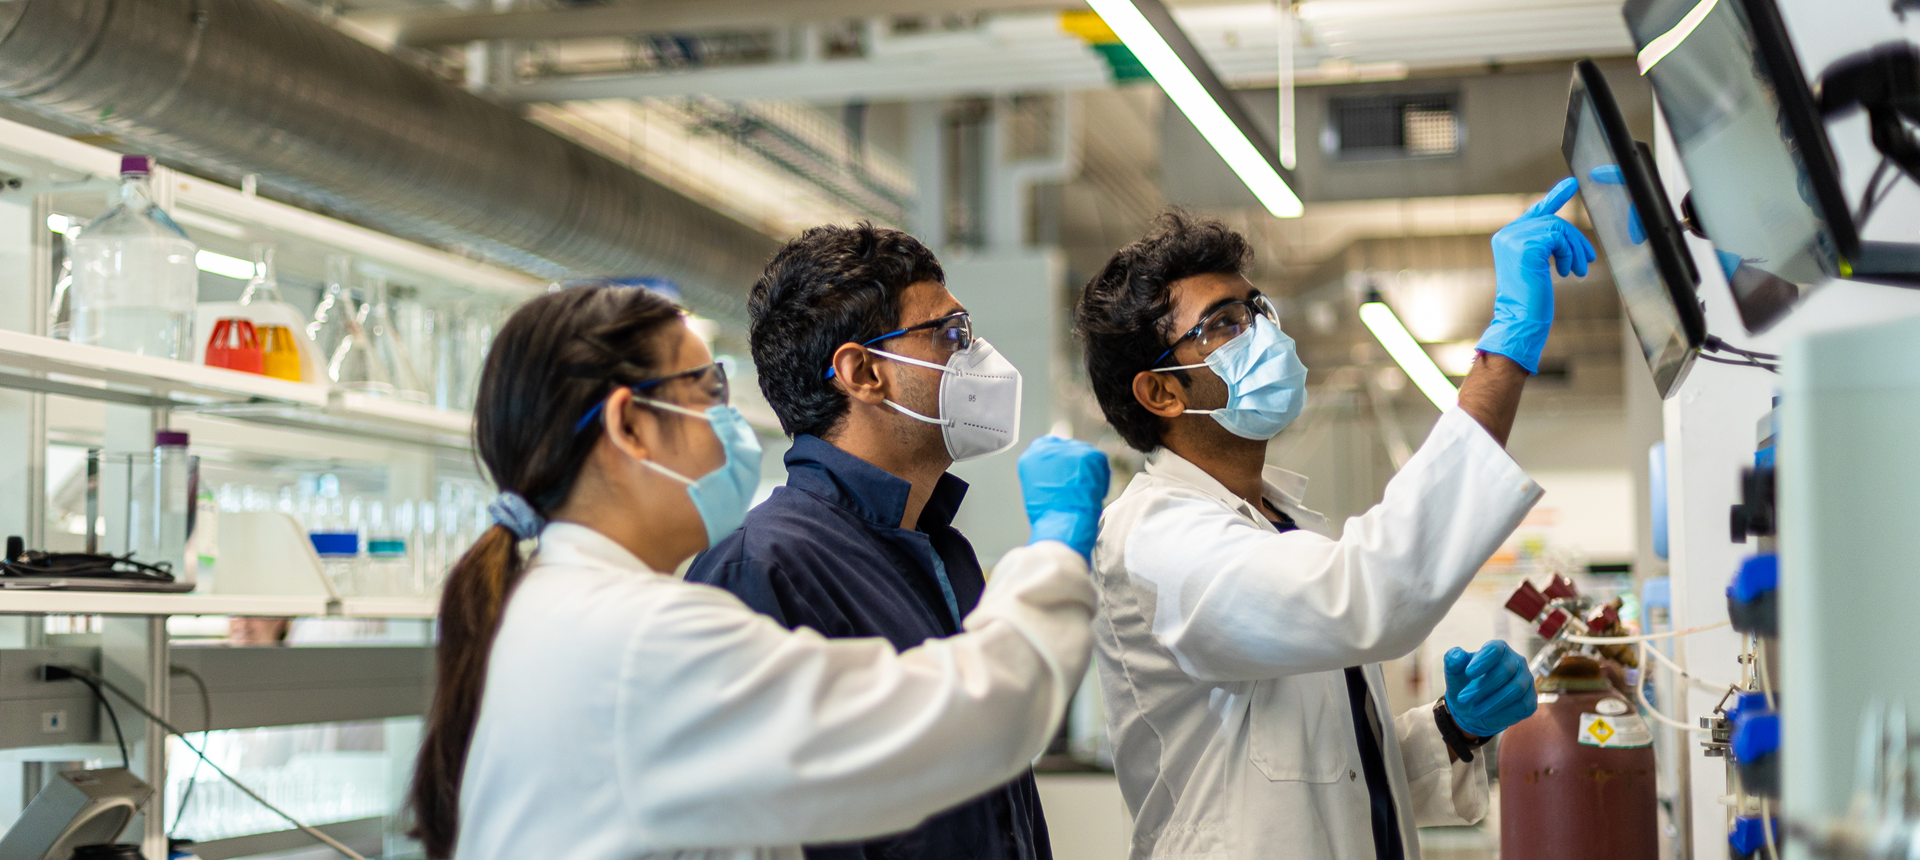
<path id="1" fill-rule="evenodd" d="M 154 203 L 148 155 L 121 157 L 121 188 L 106 215 L 73 240 L 73 326 L 67 338 L 140 355 L 192 359 L 200 251 Z"/>

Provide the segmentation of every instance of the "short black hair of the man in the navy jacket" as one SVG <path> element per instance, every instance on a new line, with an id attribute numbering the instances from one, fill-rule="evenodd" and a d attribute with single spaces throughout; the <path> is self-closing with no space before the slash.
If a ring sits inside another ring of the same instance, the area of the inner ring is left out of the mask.
<path id="1" fill-rule="evenodd" d="M 947 282 L 933 251 L 870 223 L 814 227 L 774 255 L 747 299 L 747 340 L 787 436 L 828 436 L 847 417 L 847 394 L 826 378 L 833 349 L 899 326 L 900 292 L 922 280 Z"/>

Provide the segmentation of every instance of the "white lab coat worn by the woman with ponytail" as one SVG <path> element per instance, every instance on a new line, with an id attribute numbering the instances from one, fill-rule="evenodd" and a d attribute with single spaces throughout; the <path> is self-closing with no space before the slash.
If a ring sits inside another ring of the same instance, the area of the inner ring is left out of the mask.
<path id="1" fill-rule="evenodd" d="M 1002 557 L 966 633 L 897 653 L 551 524 L 493 641 L 457 856 L 797 860 L 914 827 L 1046 747 L 1091 618 L 1056 541 Z"/>

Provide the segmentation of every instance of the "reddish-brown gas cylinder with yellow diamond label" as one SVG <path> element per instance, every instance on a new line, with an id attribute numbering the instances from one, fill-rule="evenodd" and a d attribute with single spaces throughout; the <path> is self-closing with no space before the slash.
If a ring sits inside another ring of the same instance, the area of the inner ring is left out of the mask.
<path id="1" fill-rule="evenodd" d="M 1534 681 L 1534 716 L 1500 737 L 1501 860 L 1657 860 L 1653 731 L 1597 660 Z"/>

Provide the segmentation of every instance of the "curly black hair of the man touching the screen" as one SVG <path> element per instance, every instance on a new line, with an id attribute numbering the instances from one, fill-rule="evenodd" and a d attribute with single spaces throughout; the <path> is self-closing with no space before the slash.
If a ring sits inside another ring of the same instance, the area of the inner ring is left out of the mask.
<path id="1" fill-rule="evenodd" d="M 1167 351 L 1173 282 L 1196 275 L 1246 275 L 1254 250 L 1219 221 L 1169 209 L 1146 238 L 1106 261 L 1073 305 L 1073 334 L 1087 351 L 1094 399 L 1119 438 L 1160 447 L 1162 420 L 1133 397 L 1133 376 Z"/>

